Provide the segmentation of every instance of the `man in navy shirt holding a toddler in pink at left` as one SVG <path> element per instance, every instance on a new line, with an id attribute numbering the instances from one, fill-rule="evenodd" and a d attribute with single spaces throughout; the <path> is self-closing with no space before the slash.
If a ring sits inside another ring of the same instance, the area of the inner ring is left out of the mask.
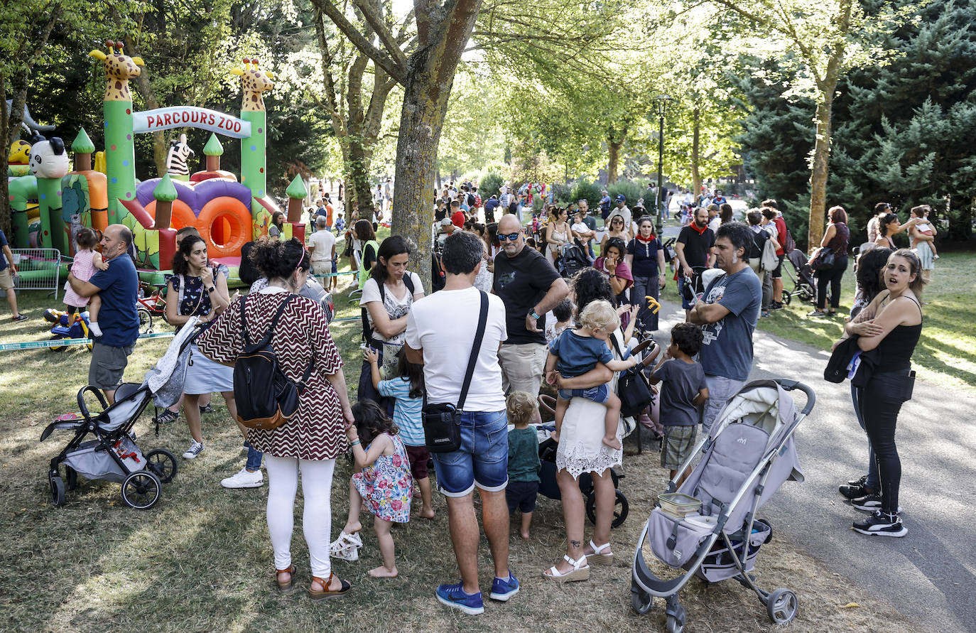
<path id="1" fill-rule="evenodd" d="M 109 225 L 102 234 L 102 258 L 108 263 L 108 269 L 97 272 L 88 281 L 67 275 L 71 288 L 82 297 L 99 293 L 102 298 L 99 312 L 102 336 L 96 337 L 93 344 L 88 384 L 101 389 L 109 403 L 115 401 L 115 389 L 122 384 L 129 355 L 139 338 L 136 312 L 139 275 L 129 257 L 131 244 L 129 229 L 124 225 Z"/>

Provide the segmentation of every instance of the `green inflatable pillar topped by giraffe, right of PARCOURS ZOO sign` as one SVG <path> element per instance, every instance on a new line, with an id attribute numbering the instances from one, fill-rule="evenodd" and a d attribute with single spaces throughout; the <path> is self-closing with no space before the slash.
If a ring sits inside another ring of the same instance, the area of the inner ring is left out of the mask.
<path id="1" fill-rule="evenodd" d="M 250 67 L 254 64 L 254 67 Z M 243 68 L 231 72 L 241 78 L 241 118 L 251 122 L 251 137 L 241 140 L 241 184 L 251 195 L 263 198 L 267 192 L 265 172 L 267 114 L 262 93 L 274 88 L 274 75 L 258 69 L 258 60 L 244 59 Z"/>

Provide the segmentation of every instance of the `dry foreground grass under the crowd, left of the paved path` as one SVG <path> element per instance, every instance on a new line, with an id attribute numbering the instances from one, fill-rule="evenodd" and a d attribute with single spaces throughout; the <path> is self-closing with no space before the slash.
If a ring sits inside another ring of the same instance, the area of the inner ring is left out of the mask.
<path id="1" fill-rule="evenodd" d="M 343 277 L 341 287 L 349 278 Z M 958 292 L 961 311 L 962 290 Z M 21 295 L 21 303 L 31 318 L 16 324 L 0 321 L 0 341 L 46 339 L 48 326 L 40 314 L 53 302 L 33 293 Z M 358 309 L 344 298 L 337 298 L 337 307 L 339 317 L 358 317 Z M 933 308 L 929 314 L 934 312 Z M 793 313 L 779 318 L 799 320 Z M 350 386 L 359 373 L 359 327 L 358 320 L 351 320 L 332 328 L 346 359 Z M 826 341 L 827 335 L 822 336 Z M 166 345 L 166 340 L 139 343 L 126 377 L 138 382 Z M 630 499 L 630 519 L 612 534 L 616 563 L 609 569 L 594 568 L 589 582 L 558 586 L 542 577 L 541 571 L 561 556 L 564 532 L 559 503 L 540 497 L 532 539 L 523 541 L 516 529 L 511 531 L 511 568 L 522 581 L 521 593 L 508 604 L 486 601 L 481 617 L 441 607 L 433 599 L 433 588 L 454 582 L 458 573 L 446 507 L 435 495 L 437 516 L 432 521 L 415 519 L 393 531 L 400 577 L 379 580 L 367 575 L 366 570 L 380 564 L 380 554 L 364 517 L 362 559 L 335 564 L 337 573 L 353 583 L 351 594 L 337 602 L 312 603 L 305 596 L 309 572 L 301 538 L 301 496 L 293 547 L 300 590 L 280 596 L 272 589 L 272 554 L 264 522 L 266 486 L 220 486 L 222 478 L 241 468 L 244 452 L 219 396 L 214 399 L 215 413 L 204 417 L 206 450 L 193 461 L 178 458 L 179 474 L 164 486 L 162 499 L 151 510 L 127 508 L 117 484 L 83 480 L 67 493 L 62 508 L 50 504 L 48 462 L 68 438 L 58 432 L 45 443 L 38 443 L 38 438 L 53 417 L 75 409 L 74 396 L 85 384 L 89 359 L 89 353 L 77 347 L 61 353 L 0 353 L 0 410 L 5 413 L 0 427 L 0 528 L 9 535 L 7 563 L 0 571 L 5 629 L 664 630 L 660 602 L 650 616 L 630 611 L 633 544 L 654 496 L 666 484 L 667 475 L 653 450 L 640 455 L 631 450 L 625 459 L 621 489 Z M 142 449 L 165 447 L 182 453 L 189 440 L 183 420 L 164 426 L 155 437 L 150 415 L 143 414 L 135 429 Z M 344 523 L 350 473 L 348 462 L 340 459 L 333 484 L 334 536 Z M 485 589 L 491 583 L 489 560 L 482 539 L 479 564 Z M 873 631 L 884 624 L 915 630 L 890 605 L 826 570 L 781 536 L 763 548 L 756 575 L 767 589 L 796 590 L 800 615 L 788 630 Z M 682 602 L 688 609 L 686 630 L 691 632 L 773 630 L 765 609 L 735 583 L 706 586 L 692 580 L 682 592 Z M 850 603 L 858 607 L 848 608 Z"/>

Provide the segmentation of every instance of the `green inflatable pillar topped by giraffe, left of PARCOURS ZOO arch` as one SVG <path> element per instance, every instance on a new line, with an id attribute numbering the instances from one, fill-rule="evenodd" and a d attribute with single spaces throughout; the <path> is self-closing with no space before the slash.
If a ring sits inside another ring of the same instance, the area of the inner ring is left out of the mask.
<path id="1" fill-rule="evenodd" d="M 105 42 L 108 54 L 92 51 L 105 70 L 102 100 L 105 125 L 105 162 L 108 172 L 108 222 L 114 224 L 126 214 L 119 200 L 136 197 L 136 148 L 133 144 L 132 95 L 129 79 L 142 72 L 142 59 L 122 53 L 122 42 Z M 118 53 L 115 52 L 118 49 Z"/>

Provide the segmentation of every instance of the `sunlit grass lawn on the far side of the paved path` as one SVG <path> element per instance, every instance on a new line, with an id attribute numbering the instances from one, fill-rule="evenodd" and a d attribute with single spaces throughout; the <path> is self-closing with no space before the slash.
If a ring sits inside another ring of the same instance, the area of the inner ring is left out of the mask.
<path id="1" fill-rule="evenodd" d="M 946 252 L 936 263 L 932 282 L 925 287 L 922 301 L 924 321 L 921 339 L 915 348 L 912 365 L 919 378 L 947 389 L 976 395 L 976 274 L 972 252 Z M 789 263 L 784 262 L 784 268 Z M 849 268 L 843 276 L 838 314 L 850 312 L 854 303 L 854 273 Z M 792 269 L 790 269 L 792 272 Z M 793 282 L 784 272 L 785 289 L 793 290 Z M 669 279 L 665 296 L 678 301 L 675 284 Z M 771 317 L 759 319 L 759 329 L 830 350 L 843 332 L 842 317 L 814 318 L 806 314 L 812 304 L 793 297 L 790 306 L 774 311 Z"/>

